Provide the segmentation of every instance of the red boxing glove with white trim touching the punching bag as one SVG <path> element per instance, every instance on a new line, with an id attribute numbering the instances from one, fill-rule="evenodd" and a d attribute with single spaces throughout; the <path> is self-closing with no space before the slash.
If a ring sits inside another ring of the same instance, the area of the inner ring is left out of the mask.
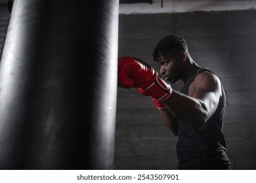
<path id="1" fill-rule="evenodd" d="M 118 58 L 118 86 L 142 88 L 157 101 L 164 101 L 172 92 L 171 86 L 148 63 L 128 56 Z"/>

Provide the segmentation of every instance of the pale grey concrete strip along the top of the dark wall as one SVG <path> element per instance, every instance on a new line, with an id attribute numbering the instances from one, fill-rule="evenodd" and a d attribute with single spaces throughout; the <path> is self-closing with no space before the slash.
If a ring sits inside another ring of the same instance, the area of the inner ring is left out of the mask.
<path id="1" fill-rule="evenodd" d="M 119 14 L 247 10 L 249 8 L 256 8 L 255 0 L 153 0 L 153 4 L 121 4 Z"/>

